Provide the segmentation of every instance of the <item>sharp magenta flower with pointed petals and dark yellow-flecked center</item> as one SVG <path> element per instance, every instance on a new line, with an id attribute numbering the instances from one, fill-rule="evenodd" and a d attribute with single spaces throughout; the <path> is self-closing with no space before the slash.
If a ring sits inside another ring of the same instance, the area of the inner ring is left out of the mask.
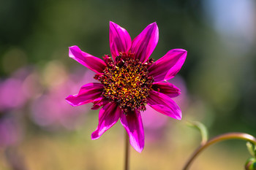
<path id="1" fill-rule="evenodd" d="M 171 99 L 180 90 L 166 80 L 181 69 L 187 51 L 174 49 L 156 62 L 148 59 L 157 46 L 158 36 L 157 23 L 151 23 L 131 40 L 124 28 L 110 21 L 112 58 L 105 55 L 102 61 L 77 46 L 69 47 L 69 57 L 96 72 L 94 78 L 99 80 L 83 85 L 78 94 L 66 98 L 72 106 L 92 102 L 91 109 L 102 107 L 99 125 L 91 139 L 98 139 L 120 119 L 130 144 L 141 152 L 144 131 L 140 112 L 146 110 L 146 104 L 164 115 L 181 119 L 181 109 Z"/>

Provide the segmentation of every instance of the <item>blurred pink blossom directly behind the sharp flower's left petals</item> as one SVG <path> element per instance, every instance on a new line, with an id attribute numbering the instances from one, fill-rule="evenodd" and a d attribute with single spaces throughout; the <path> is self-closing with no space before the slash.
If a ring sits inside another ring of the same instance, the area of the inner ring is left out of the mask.
<path id="1" fill-rule="evenodd" d="M 93 77 L 93 74 L 93 72 L 88 70 L 86 74 L 83 71 L 76 74 L 59 75 L 67 76 L 67 79 L 61 83 L 53 82 L 53 85 L 50 85 L 46 92 L 36 98 L 31 104 L 31 117 L 34 122 L 50 130 L 63 127 L 67 129 L 75 128 L 82 122 L 80 119 L 81 113 L 88 112 L 89 107 L 76 108 L 74 112 L 74 108 L 67 105 L 63 98 L 68 93 L 74 93 L 80 85 L 87 82 L 86 79 L 81 79 L 80 77 Z"/>

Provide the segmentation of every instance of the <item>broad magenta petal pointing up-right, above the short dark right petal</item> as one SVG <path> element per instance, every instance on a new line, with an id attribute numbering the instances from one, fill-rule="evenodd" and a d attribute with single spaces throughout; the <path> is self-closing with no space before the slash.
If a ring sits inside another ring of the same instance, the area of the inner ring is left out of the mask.
<path id="1" fill-rule="evenodd" d="M 181 69 L 186 57 L 186 50 L 170 50 L 148 68 L 148 75 L 153 76 L 155 82 L 170 80 Z"/>

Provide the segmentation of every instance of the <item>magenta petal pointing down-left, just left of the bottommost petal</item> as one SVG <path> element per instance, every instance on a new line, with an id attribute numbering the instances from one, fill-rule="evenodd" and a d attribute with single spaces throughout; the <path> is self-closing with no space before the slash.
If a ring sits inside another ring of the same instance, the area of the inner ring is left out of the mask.
<path id="1" fill-rule="evenodd" d="M 111 128 L 121 115 L 121 109 L 115 103 L 105 104 L 102 109 L 99 110 L 99 125 L 96 131 L 91 134 L 91 139 L 99 139 L 99 137 Z"/>

